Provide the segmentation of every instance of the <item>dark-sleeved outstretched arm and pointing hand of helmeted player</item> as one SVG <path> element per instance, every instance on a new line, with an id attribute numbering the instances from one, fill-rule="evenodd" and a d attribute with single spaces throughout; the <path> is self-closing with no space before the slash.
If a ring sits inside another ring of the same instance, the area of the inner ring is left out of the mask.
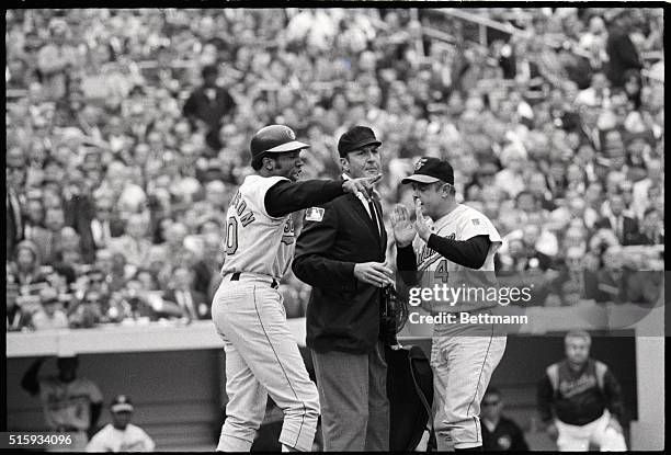
<path id="1" fill-rule="evenodd" d="M 352 180 L 306 180 L 303 182 L 282 181 L 265 193 L 265 211 L 270 216 L 282 217 L 316 205 L 326 204 L 345 193 L 361 192 L 367 197 L 373 185 L 382 179 L 365 177 Z"/>

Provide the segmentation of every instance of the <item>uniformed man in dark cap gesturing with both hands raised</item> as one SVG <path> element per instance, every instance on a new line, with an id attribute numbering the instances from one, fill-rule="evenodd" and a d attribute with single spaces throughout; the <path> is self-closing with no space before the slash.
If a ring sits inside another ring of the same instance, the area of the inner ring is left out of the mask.
<path id="1" fill-rule="evenodd" d="M 455 201 L 450 163 L 421 158 L 414 173 L 401 181 L 412 184 L 417 220 L 397 206 L 391 216 L 397 246 L 397 268 L 403 281 L 419 278 L 423 288 L 435 284 L 496 286 L 493 255 L 501 237 L 478 211 Z M 433 226 L 424 218 L 431 217 Z M 408 277 L 403 271 L 419 272 Z M 437 300 L 436 297 L 434 297 Z M 489 312 L 496 302 L 486 299 L 445 305 L 441 311 Z M 437 309 L 435 305 L 433 309 Z M 439 451 L 481 451 L 480 401 L 505 349 L 505 337 L 491 323 L 435 323 L 431 348 L 434 385 L 434 429 Z"/>

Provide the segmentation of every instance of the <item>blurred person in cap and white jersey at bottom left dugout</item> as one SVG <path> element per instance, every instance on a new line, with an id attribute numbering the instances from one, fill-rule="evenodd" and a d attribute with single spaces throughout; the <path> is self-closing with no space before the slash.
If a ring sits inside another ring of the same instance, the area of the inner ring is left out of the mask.
<path id="1" fill-rule="evenodd" d="M 114 397 L 110 405 L 112 423 L 91 437 L 87 452 L 153 452 L 156 444 L 141 428 L 130 423 L 135 408 L 126 395 Z"/>

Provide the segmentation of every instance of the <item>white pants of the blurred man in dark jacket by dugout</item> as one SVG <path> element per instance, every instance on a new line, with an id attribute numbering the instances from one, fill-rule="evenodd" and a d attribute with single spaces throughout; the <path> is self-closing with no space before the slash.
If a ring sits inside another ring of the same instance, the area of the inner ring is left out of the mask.
<path id="1" fill-rule="evenodd" d="M 585 425 L 570 425 L 556 420 L 555 424 L 559 432 L 557 448 L 560 452 L 587 452 L 592 442 L 601 452 L 625 452 L 627 444 L 624 435 L 609 428 L 610 420 L 611 413 L 607 409 L 603 416 Z"/>

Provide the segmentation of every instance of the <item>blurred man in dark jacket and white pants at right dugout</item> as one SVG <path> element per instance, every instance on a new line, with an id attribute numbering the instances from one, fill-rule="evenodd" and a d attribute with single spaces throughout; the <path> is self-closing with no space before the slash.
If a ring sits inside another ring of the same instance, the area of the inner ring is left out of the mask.
<path id="1" fill-rule="evenodd" d="M 590 359 L 592 339 L 585 331 L 566 334 L 566 359 L 547 367 L 538 383 L 538 411 L 561 452 L 626 451 L 621 421 L 622 389 L 610 368 Z"/>

